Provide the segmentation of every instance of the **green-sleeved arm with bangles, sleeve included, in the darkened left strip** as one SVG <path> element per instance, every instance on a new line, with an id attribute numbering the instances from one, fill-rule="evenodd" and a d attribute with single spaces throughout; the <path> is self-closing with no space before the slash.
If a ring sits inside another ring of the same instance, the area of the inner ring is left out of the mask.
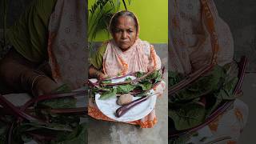
<path id="1" fill-rule="evenodd" d="M 48 23 L 56 2 L 34 0 L 7 33 L 12 48 L 0 61 L 0 82 L 12 93 L 36 96 L 58 88 L 46 64 Z"/>

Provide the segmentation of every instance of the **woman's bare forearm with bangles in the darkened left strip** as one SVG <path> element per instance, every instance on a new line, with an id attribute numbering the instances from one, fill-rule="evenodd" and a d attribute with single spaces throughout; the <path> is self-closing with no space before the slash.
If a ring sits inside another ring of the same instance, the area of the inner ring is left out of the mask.
<path id="1" fill-rule="evenodd" d="M 18 92 L 38 96 L 49 94 L 58 88 L 45 72 L 38 70 L 38 64 L 28 61 L 14 49 L 0 61 L 0 81 Z"/>

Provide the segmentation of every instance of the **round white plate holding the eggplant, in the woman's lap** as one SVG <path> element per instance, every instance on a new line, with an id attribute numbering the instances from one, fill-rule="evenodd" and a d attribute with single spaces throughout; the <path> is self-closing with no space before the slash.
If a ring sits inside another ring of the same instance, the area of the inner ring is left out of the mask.
<path id="1" fill-rule="evenodd" d="M 130 77 L 130 76 L 129 76 Z M 132 78 L 132 77 L 131 77 Z M 115 79 L 114 82 L 122 82 L 126 78 Z M 133 78 L 132 78 L 133 79 Z M 113 81 L 112 81 L 113 82 Z M 150 94 L 154 94 L 154 90 L 150 90 Z M 134 106 L 130 110 L 126 112 L 126 114 L 122 115 L 122 117 L 118 118 L 115 115 L 115 111 L 120 107 L 116 101 L 117 97 L 109 98 L 106 100 L 100 100 L 100 94 L 95 95 L 95 102 L 98 106 L 98 109 L 102 111 L 107 117 L 112 118 L 118 122 L 131 122 L 136 121 L 138 119 L 144 118 L 147 114 L 154 109 L 154 105 L 157 99 L 157 95 L 152 95 L 146 101 L 139 103 L 137 106 Z M 140 97 L 133 97 L 133 100 L 136 100 Z"/>

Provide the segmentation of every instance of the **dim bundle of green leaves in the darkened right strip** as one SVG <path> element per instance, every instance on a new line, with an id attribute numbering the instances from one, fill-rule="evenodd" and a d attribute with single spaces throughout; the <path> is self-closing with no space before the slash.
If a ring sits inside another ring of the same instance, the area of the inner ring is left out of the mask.
<path id="1" fill-rule="evenodd" d="M 169 86 L 174 86 L 186 76 L 169 72 Z M 238 66 L 214 66 L 206 74 L 169 96 L 170 133 L 199 126 L 224 102 L 235 99 L 233 93 L 238 83 Z"/>

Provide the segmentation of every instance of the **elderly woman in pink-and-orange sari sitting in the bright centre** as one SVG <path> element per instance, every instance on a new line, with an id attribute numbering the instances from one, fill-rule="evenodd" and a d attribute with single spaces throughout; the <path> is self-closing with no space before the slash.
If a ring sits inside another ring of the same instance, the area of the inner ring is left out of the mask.
<path id="1" fill-rule="evenodd" d="M 110 33 L 113 39 L 104 43 L 92 58 L 89 69 L 92 78 L 108 78 L 132 72 L 159 70 L 161 61 L 154 46 L 138 38 L 138 18 L 123 10 L 110 20 Z M 161 85 L 164 86 L 164 85 Z M 93 118 L 110 120 L 103 115 L 90 100 L 88 114 Z M 157 122 L 154 110 L 141 120 L 129 122 L 142 127 L 152 127 Z"/>

